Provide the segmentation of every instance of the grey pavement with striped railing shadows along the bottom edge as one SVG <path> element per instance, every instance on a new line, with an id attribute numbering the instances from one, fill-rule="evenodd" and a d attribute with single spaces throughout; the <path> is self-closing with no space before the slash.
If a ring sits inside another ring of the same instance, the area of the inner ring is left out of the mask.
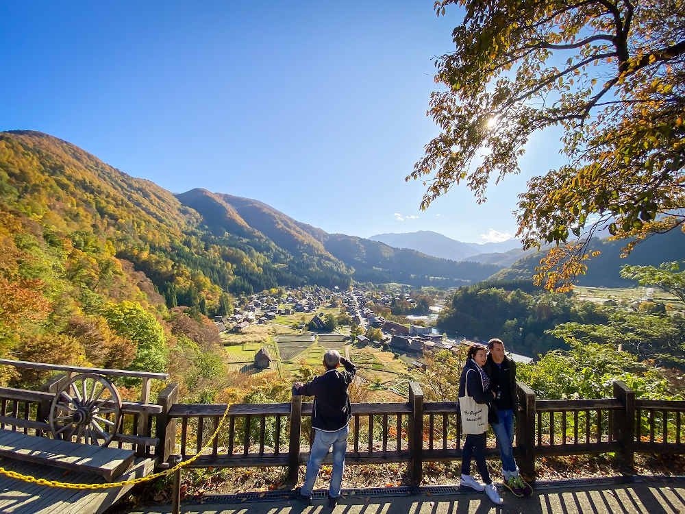
<path id="1" fill-rule="evenodd" d="M 390 488 L 388 488 L 390 489 Z M 515 498 L 502 491 L 503 506 L 495 506 L 480 493 L 423 493 L 395 495 L 357 490 L 340 500 L 335 514 L 676 514 L 685 513 L 685 479 L 644 480 L 629 484 L 580 481 L 578 485 L 540 485 L 531 498 Z M 500 488 L 501 489 L 501 488 Z M 435 489 L 434 489 L 435 490 Z M 383 491 L 381 491 L 383 492 Z M 393 491 L 387 491 L 392 493 Z M 325 493 L 321 491 L 320 496 Z M 271 495 L 269 495 L 271 496 Z M 328 514 L 327 500 L 315 498 L 306 506 L 296 500 L 243 497 L 221 503 L 221 497 L 207 497 L 204 503 L 183 504 L 186 514 Z M 216 502 L 216 503 L 215 503 Z M 170 513 L 169 506 L 130 511 L 129 514 Z"/>

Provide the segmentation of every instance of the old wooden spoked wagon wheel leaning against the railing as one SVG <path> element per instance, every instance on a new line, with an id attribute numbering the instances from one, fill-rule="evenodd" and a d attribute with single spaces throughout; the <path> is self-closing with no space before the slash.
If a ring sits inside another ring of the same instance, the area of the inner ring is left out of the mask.
<path id="1" fill-rule="evenodd" d="M 119 391 L 94 373 L 73 376 L 55 394 L 49 423 L 55 439 L 106 446 L 121 423 Z"/>

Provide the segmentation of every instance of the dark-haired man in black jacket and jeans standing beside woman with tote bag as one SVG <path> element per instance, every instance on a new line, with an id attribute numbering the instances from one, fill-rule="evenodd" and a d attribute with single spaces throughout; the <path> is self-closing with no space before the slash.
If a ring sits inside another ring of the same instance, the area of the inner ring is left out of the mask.
<path id="1" fill-rule="evenodd" d="M 516 363 L 506 355 L 501 339 L 490 339 L 488 350 L 488 360 L 483 369 L 490 377 L 490 388 L 495 393 L 497 422 L 491 423 L 491 426 L 499 446 L 504 485 L 521 498 L 530 495 L 533 490 L 519 476 L 519 467 L 514 461 L 514 413 L 519 409 L 519 398 L 516 396 Z"/>

